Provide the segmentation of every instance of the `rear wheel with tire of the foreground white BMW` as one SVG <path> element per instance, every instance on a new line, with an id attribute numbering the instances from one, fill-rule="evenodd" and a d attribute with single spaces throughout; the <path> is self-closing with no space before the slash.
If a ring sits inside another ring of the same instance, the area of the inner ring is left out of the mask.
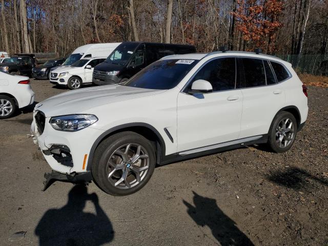
<path id="1" fill-rule="evenodd" d="M 268 144 L 276 153 L 283 153 L 292 148 L 296 134 L 297 121 L 293 114 L 286 111 L 279 112 L 272 121 L 269 130 Z"/>

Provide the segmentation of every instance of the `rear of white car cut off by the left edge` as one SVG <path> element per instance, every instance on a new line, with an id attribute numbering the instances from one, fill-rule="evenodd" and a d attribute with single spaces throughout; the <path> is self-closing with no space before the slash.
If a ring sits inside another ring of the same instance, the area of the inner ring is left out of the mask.
<path id="1" fill-rule="evenodd" d="M 31 105 L 33 102 L 34 92 L 29 77 L 0 71 L 0 119 L 13 116 L 17 109 Z"/>

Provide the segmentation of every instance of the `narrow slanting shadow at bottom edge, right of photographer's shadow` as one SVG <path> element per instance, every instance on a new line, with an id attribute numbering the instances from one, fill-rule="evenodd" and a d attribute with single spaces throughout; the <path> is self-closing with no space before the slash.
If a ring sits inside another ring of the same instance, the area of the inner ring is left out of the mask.
<path id="1" fill-rule="evenodd" d="M 188 214 L 199 226 L 208 226 L 221 246 L 254 245 L 237 228 L 236 223 L 222 212 L 215 199 L 200 196 L 196 192 L 193 192 L 193 194 L 195 206 L 183 200 L 188 208 Z"/>

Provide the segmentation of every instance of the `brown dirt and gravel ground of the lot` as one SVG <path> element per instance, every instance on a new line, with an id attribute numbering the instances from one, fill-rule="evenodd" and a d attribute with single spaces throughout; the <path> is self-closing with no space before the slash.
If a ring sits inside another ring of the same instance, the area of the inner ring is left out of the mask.
<path id="1" fill-rule="evenodd" d="M 36 101 L 65 92 L 32 80 Z M 31 138 L 32 108 L 0 121 L 1 245 L 328 245 L 328 88 L 284 154 L 263 146 L 155 169 L 126 197 L 55 182 Z M 15 234 L 16 233 L 16 234 Z"/>

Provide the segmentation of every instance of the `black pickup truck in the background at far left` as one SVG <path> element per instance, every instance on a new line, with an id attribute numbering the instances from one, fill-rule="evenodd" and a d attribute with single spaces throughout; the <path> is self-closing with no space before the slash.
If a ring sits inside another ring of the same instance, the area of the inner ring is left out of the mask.
<path id="1" fill-rule="evenodd" d="M 31 77 L 34 66 L 34 61 L 30 56 L 13 56 L 6 63 L 0 64 L 0 70 L 12 75 L 27 75 Z"/>

